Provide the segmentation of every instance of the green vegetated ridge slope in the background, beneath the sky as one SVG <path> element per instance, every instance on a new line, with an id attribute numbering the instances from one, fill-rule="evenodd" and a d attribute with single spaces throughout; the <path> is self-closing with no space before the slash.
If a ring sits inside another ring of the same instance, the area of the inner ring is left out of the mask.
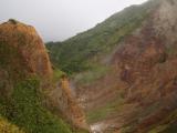
<path id="1" fill-rule="evenodd" d="M 140 27 L 150 9 L 150 2 L 132 6 L 64 42 L 49 42 L 46 47 L 53 63 L 70 74 L 94 69 L 118 42 Z"/>

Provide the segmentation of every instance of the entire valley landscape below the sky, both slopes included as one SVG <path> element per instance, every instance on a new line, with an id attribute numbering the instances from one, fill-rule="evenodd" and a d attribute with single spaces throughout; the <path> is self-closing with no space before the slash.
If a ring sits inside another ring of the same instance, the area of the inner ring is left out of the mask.
<path id="1" fill-rule="evenodd" d="M 148 0 L 45 44 L 1 23 L 0 133 L 177 133 L 176 12 Z"/>

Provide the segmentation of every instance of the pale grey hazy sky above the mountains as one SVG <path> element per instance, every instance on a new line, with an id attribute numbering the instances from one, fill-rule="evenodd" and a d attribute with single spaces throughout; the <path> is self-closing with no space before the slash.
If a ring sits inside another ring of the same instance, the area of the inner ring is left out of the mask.
<path id="1" fill-rule="evenodd" d="M 131 4 L 147 0 L 0 0 L 0 23 L 10 18 L 35 27 L 44 41 L 65 40 Z"/>

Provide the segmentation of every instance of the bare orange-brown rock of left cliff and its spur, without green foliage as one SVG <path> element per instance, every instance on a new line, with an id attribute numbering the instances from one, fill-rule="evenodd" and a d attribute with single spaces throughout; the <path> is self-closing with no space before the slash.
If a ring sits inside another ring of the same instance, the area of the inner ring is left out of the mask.
<path id="1" fill-rule="evenodd" d="M 37 92 L 43 94 L 38 98 L 42 99 L 42 104 L 56 115 L 66 117 L 73 126 L 88 129 L 84 113 L 71 93 L 69 81 L 54 79 L 53 73 L 45 45 L 33 27 L 15 20 L 0 24 L 1 98 L 11 101 L 17 84 L 25 79 L 38 76 L 40 88 Z M 60 80 L 61 84 L 59 84 Z"/>

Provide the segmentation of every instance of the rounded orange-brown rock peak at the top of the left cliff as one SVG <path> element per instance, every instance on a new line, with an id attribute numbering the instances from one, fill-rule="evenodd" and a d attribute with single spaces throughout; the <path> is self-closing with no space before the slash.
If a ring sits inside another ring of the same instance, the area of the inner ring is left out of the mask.
<path id="1" fill-rule="evenodd" d="M 0 24 L 0 58 L 9 60 L 2 63 L 6 66 L 13 64 L 17 74 L 20 70 L 41 78 L 52 75 L 45 47 L 33 27 L 13 20 Z"/>

